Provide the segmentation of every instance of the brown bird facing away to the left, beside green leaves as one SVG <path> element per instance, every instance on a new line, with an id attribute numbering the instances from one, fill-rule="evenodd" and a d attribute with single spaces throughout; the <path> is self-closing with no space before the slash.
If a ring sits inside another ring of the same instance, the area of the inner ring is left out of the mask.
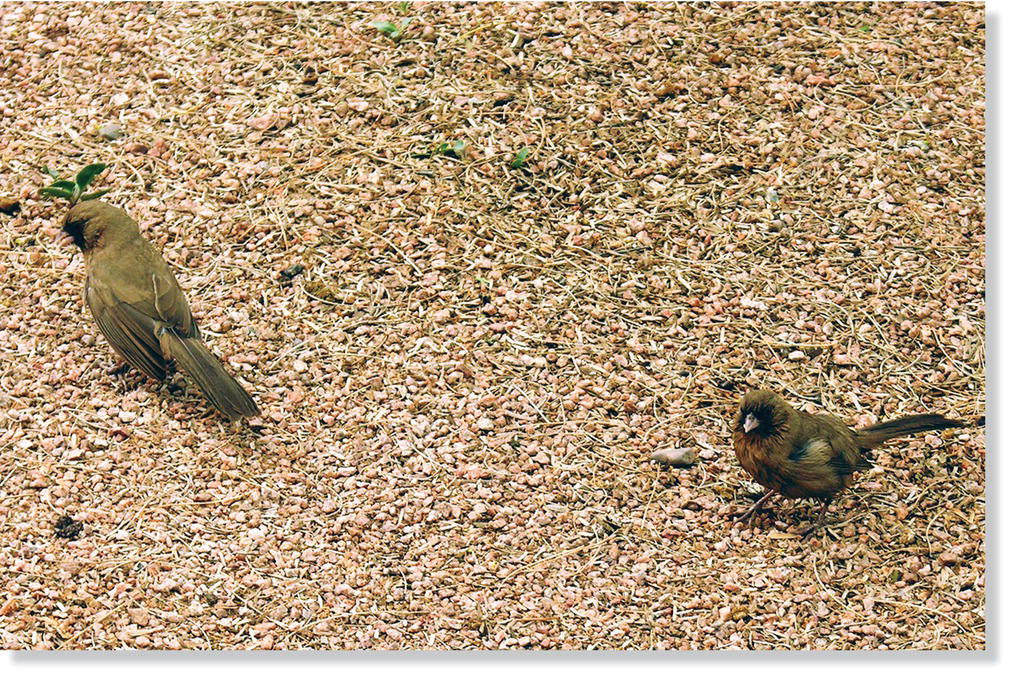
<path id="1" fill-rule="evenodd" d="M 174 361 L 230 420 L 260 415 L 204 346 L 175 276 L 126 211 L 79 202 L 63 229 L 84 253 L 84 297 L 116 354 L 156 380 L 165 379 L 166 365 Z"/>

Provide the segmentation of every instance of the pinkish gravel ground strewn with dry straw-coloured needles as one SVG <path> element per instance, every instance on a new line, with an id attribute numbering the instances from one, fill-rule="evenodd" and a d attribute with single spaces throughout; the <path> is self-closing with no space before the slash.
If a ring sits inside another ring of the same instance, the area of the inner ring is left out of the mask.
<path id="1" fill-rule="evenodd" d="M 0 645 L 984 649 L 981 427 L 729 519 L 751 386 L 983 415 L 984 26 L 0 5 Z M 259 424 L 118 371 L 34 197 L 92 161 Z"/>

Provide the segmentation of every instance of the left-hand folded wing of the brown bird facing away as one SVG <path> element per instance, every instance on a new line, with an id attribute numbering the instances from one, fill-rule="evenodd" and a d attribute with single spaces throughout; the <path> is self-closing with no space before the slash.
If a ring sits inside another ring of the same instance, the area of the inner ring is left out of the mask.
<path id="1" fill-rule="evenodd" d="M 154 321 L 121 302 L 107 286 L 91 279 L 85 282 L 84 295 L 99 330 L 116 354 L 149 377 L 164 379 L 165 358 Z"/>

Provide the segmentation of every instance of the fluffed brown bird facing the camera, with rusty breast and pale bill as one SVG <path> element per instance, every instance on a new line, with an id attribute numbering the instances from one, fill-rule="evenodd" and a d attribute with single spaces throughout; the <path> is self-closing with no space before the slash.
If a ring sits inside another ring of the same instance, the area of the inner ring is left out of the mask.
<path id="1" fill-rule="evenodd" d="M 834 496 L 851 486 L 857 471 L 872 468 L 870 450 L 898 436 L 963 426 L 938 415 L 913 415 L 853 430 L 832 415 L 796 410 L 772 391 L 751 391 L 738 405 L 732 444 L 738 463 L 768 492 L 737 520 L 752 517 L 774 494 L 812 497 L 823 507 L 808 536 L 823 525 Z"/>

